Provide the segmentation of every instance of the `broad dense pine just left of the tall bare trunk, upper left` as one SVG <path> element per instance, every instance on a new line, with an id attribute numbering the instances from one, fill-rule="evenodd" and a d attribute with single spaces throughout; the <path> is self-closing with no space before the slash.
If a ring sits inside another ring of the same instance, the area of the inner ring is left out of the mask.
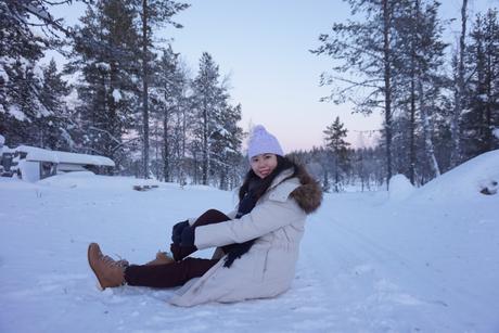
<path id="1" fill-rule="evenodd" d="M 82 26 L 74 34 L 66 65 L 66 73 L 82 77 L 76 87 L 85 149 L 108 156 L 117 165 L 125 158 L 124 136 L 135 127 L 138 35 L 133 15 L 132 8 L 120 0 L 89 5 Z"/>

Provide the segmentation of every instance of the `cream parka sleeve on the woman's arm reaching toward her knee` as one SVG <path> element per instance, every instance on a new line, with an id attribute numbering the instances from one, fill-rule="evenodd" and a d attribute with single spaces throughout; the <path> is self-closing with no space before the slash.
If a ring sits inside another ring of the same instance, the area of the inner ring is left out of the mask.
<path id="1" fill-rule="evenodd" d="M 303 219 L 304 215 L 294 198 L 266 200 L 240 219 L 197 227 L 194 244 L 197 248 L 206 248 L 244 243 Z"/>

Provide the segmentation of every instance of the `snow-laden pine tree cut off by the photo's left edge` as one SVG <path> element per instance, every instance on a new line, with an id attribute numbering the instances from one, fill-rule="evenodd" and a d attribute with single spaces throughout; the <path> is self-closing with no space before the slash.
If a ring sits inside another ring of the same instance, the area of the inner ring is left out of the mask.
<path id="1" fill-rule="evenodd" d="M 35 68 L 57 39 L 56 33 L 67 33 L 62 21 L 50 14 L 53 4 L 47 0 L 0 2 L 0 132 L 10 144 L 38 143 L 31 126 L 47 110 L 39 98 L 40 78 Z M 53 38 L 35 34 L 35 26 Z"/>

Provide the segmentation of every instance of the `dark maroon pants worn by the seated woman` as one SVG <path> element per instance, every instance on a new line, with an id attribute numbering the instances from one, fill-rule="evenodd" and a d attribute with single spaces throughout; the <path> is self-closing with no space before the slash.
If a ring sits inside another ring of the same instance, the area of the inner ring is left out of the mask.
<path id="1" fill-rule="evenodd" d="M 219 223 L 230 220 L 223 213 L 209 209 L 201 215 L 193 227 Z M 228 245 L 230 246 L 230 245 Z M 222 247 L 227 253 L 230 247 Z M 125 281 L 129 285 L 171 287 L 182 285 L 192 278 L 203 276 L 218 259 L 185 258 L 196 251 L 196 247 L 182 247 L 171 244 L 176 262 L 165 265 L 130 265 L 125 270 Z"/>

